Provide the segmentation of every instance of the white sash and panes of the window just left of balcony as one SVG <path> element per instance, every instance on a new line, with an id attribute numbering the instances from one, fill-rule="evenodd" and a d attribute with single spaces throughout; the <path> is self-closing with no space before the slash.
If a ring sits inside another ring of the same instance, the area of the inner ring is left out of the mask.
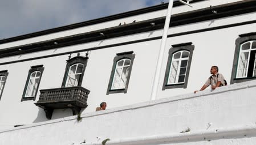
<path id="1" fill-rule="evenodd" d="M 41 72 L 34 71 L 30 75 L 29 84 L 27 85 L 26 95 L 25 97 L 34 97 L 36 89 L 38 87 L 39 79 Z"/>

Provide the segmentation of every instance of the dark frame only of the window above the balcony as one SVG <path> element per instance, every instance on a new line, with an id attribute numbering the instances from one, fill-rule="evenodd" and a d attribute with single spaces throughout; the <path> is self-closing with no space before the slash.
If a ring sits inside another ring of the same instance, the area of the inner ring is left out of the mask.
<path id="1" fill-rule="evenodd" d="M 64 77 L 63 77 L 63 81 L 62 81 L 62 88 L 64 88 L 66 86 L 67 76 L 68 76 L 68 72 L 70 70 L 70 66 L 78 64 L 78 63 L 81 63 L 84 65 L 82 74 L 78 81 L 78 86 L 82 85 L 84 71 L 86 71 L 87 61 L 88 61 L 88 57 L 83 57 L 83 56 L 76 56 L 76 57 L 73 57 L 73 58 L 67 60 L 67 65 L 66 65 L 66 69 L 65 69 L 65 73 L 64 73 Z"/>

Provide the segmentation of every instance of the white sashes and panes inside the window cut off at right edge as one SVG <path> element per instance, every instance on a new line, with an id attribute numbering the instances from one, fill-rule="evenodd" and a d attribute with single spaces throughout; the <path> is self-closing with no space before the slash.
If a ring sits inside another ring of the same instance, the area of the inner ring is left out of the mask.
<path id="1" fill-rule="evenodd" d="M 251 50 L 256 50 L 256 41 L 245 42 L 241 45 L 239 58 L 238 58 L 236 78 L 247 77 Z M 256 58 L 254 58 L 253 76 L 256 75 L 255 67 L 256 67 Z"/>

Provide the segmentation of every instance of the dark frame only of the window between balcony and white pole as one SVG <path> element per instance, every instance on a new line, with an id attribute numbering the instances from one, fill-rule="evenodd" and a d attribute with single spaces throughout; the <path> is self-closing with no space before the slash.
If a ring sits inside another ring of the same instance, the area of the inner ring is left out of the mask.
<path id="1" fill-rule="evenodd" d="M 123 88 L 123 89 L 111 89 L 112 82 L 113 82 L 113 77 L 115 75 L 116 64 L 117 64 L 118 61 L 120 61 L 121 59 L 125 59 L 125 58 L 131 59 L 131 64 L 130 64 L 130 67 L 129 67 L 129 73 L 127 75 L 125 88 Z M 108 82 L 107 95 L 109 95 L 110 93 L 127 93 L 134 58 L 135 58 L 135 54 L 133 54 L 133 51 L 123 52 L 123 53 L 116 53 L 116 57 L 113 59 L 111 75 L 110 75 L 109 82 Z"/>

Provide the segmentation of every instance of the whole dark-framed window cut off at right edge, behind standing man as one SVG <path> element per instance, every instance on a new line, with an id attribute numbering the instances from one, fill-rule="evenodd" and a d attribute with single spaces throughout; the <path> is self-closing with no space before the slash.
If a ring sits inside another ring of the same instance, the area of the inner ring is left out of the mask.
<path id="1" fill-rule="evenodd" d="M 230 84 L 256 79 L 256 33 L 239 35 Z"/>

